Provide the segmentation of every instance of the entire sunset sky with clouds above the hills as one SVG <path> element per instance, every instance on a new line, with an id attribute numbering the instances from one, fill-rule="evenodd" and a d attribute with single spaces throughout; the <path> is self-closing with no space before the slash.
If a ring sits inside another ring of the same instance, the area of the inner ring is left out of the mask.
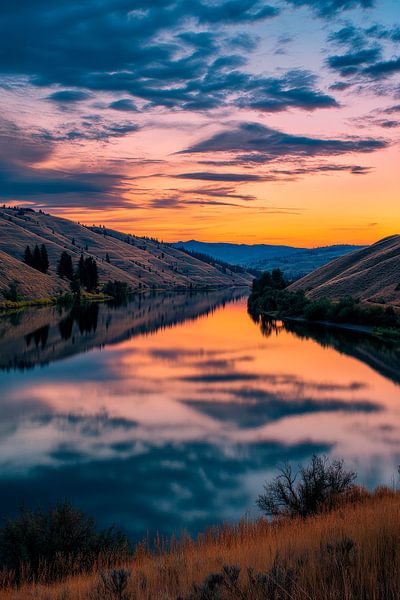
<path id="1" fill-rule="evenodd" d="M 398 0 L 3 0 L 0 202 L 165 241 L 400 232 Z"/>

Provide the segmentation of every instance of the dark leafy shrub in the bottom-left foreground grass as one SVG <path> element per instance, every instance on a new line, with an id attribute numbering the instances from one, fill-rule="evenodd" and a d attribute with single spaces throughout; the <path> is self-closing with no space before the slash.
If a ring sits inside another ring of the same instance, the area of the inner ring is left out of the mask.
<path id="1" fill-rule="evenodd" d="M 129 542 L 113 527 L 97 531 L 94 520 L 69 502 L 20 511 L 0 529 L 0 567 L 14 573 L 15 583 L 60 580 L 88 571 L 97 560 L 113 563 L 126 557 Z"/>

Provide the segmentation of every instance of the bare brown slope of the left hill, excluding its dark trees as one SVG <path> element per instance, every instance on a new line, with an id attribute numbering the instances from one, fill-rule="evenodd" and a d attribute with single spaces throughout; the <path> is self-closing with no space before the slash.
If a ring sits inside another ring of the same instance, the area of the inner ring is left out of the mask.
<path id="1" fill-rule="evenodd" d="M 26 246 L 45 244 L 47 274 L 24 264 Z M 42 298 L 65 292 L 68 282 L 57 276 L 61 252 L 76 265 L 81 254 L 93 257 L 100 284 L 126 282 L 135 289 L 200 289 L 247 286 L 251 275 L 211 265 L 157 240 L 126 235 L 104 227 L 87 227 L 31 209 L 0 209 L 0 295 L 12 281 L 20 294 Z M 108 262 L 109 261 L 109 262 Z"/>

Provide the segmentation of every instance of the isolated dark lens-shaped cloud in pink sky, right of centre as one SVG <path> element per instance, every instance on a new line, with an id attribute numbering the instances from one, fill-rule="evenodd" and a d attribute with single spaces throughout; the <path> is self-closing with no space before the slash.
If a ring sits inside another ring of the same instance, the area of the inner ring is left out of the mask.
<path id="1" fill-rule="evenodd" d="M 346 139 L 291 135 L 259 123 L 241 123 L 193 144 L 182 153 L 249 152 L 260 162 L 291 156 L 336 156 L 356 152 L 373 152 L 385 148 L 380 139 L 352 137 Z"/>

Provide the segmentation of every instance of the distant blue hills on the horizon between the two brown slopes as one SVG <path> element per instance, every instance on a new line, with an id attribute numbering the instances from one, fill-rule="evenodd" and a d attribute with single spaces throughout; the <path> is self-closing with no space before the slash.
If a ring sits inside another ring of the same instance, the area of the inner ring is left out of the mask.
<path id="1" fill-rule="evenodd" d="M 270 244 L 206 243 L 196 240 L 178 242 L 174 246 L 257 271 L 281 269 L 290 279 L 302 277 L 335 258 L 361 248 L 361 246 L 346 244 L 321 248 L 297 248 Z"/>

